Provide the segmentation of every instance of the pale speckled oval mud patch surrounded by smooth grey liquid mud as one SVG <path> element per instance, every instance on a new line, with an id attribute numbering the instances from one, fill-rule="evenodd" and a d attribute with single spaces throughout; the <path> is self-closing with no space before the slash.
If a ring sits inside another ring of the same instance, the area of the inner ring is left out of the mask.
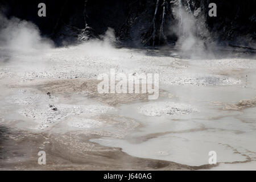
<path id="1" fill-rule="evenodd" d="M 147 116 L 191 114 L 197 111 L 191 105 L 177 104 L 175 102 L 155 102 L 139 106 L 138 110 Z"/>

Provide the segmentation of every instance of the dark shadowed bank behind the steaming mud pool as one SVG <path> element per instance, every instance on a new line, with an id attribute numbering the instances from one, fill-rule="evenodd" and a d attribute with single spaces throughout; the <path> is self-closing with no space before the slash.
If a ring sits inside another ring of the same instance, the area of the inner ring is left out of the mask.
<path id="1" fill-rule="evenodd" d="M 46 3 L 47 16 L 38 16 L 38 4 Z M 56 44 L 79 43 L 100 38 L 108 27 L 123 43 L 133 46 L 175 43 L 176 28 L 183 9 L 198 22 L 205 23 L 215 40 L 256 39 L 256 0 L 216 0 L 217 17 L 209 17 L 209 0 L 0 0 L 7 17 L 16 16 L 35 23 L 43 35 Z M 200 32 L 199 32 L 200 34 Z"/>

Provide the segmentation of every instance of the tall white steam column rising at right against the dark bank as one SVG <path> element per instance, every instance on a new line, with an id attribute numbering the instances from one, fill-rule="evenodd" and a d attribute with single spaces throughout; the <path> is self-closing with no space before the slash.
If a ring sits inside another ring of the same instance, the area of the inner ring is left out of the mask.
<path id="1" fill-rule="evenodd" d="M 212 43 L 210 45 L 209 31 L 204 18 L 199 15 L 200 9 L 192 14 L 181 5 L 181 1 L 179 3 L 179 6 L 174 8 L 179 23 L 171 31 L 178 36 L 176 46 L 179 47 L 181 55 L 191 58 L 212 57 L 214 46 Z"/>

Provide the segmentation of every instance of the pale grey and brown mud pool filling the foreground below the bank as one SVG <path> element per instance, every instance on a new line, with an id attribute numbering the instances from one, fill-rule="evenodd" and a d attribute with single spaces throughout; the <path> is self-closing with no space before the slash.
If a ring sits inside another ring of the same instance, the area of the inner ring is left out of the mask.
<path id="1" fill-rule="evenodd" d="M 256 169 L 255 59 L 86 44 L 0 51 L 0 169 Z M 98 93 L 110 69 L 159 73 L 158 100 Z"/>

